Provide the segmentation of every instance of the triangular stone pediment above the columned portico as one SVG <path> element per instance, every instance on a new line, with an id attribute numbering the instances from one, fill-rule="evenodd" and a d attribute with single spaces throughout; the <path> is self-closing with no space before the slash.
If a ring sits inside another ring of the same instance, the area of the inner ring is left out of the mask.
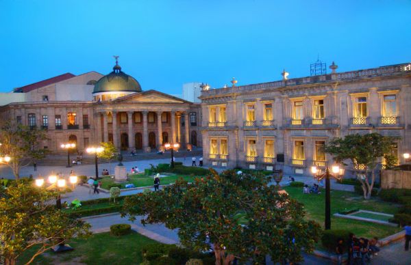
<path id="1" fill-rule="evenodd" d="M 116 98 L 115 102 L 123 103 L 186 103 L 188 101 L 170 96 L 155 90 L 140 92 Z"/>

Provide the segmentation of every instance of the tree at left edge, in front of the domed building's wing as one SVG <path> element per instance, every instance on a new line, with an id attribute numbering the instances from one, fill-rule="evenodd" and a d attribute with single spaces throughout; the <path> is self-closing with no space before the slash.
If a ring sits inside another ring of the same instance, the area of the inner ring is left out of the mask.
<path id="1" fill-rule="evenodd" d="M 13 171 L 14 178 L 20 178 L 21 167 L 25 167 L 38 159 L 44 158 L 47 150 L 40 148 L 40 143 L 46 140 L 45 130 L 30 129 L 21 124 L 4 124 L 0 129 L 0 154 L 12 159 L 7 164 Z"/>

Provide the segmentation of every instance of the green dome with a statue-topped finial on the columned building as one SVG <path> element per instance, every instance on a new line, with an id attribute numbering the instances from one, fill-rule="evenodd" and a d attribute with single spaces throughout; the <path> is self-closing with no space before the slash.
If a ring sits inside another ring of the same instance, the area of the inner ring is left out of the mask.
<path id="1" fill-rule="evenodd" d="M 113 72 L 101 77 L 95 84 L 92 93 L 100 92 L 141 92 L 141 87 L 136 79 L 122 72 L 121 67 L 116 64 Z"/>

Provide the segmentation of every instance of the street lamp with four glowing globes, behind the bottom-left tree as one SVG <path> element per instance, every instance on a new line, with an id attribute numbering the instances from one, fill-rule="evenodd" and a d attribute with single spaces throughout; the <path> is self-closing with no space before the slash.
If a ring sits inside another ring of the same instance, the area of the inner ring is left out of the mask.
<path id="1" fill-rule="evenodd" d="M 70 176 L 70 183 L 73 184 L 73 187 L 75 186 L 75 183 L 77 183 L 77 176 Z M 36 186 L 42 187 L 45 184 L 45 180 L 43 178 L 37 178 L 36 181 Z M 59 192 L 62 190 L 64 187 L 66 187 L 66 180 L 64 178 L 58 178 L 58 176 L 54 175 L 51 173 L 49 176 L 49 183 L 50 186 L 48 186 L 46 189 L 54 189 L 55 191 L 58 192 L 57 198 L 55 199 L 55 206 L 58 208 L 58 210 L 62 209 L 62 196 L 61 193 Z M 61 242 L 58 246 L 53 247 L 54 252 L 64 252 L 64 251 L 70 251 L 73 250 L 72 247 L 69 245 L 64 244 L 64 241 Z"/>

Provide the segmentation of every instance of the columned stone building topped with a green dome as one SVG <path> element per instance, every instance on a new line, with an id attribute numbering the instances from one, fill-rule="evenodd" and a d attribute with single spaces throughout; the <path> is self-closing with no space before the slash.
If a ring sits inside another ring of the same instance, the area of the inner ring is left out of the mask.
<path id="1" fill-rule="evenodd" d="M 119 64 L 103 76 L 88 72 L 62 74 L 2 94 L 1 122 L 47 130 L 43 148 L 63 152 L 60 145 L 112 141 L 119 150 L 150 152 L 164 143 L 182 148 L 201 146 L 201 107 L 155 90 L 142 91 Z"/>

